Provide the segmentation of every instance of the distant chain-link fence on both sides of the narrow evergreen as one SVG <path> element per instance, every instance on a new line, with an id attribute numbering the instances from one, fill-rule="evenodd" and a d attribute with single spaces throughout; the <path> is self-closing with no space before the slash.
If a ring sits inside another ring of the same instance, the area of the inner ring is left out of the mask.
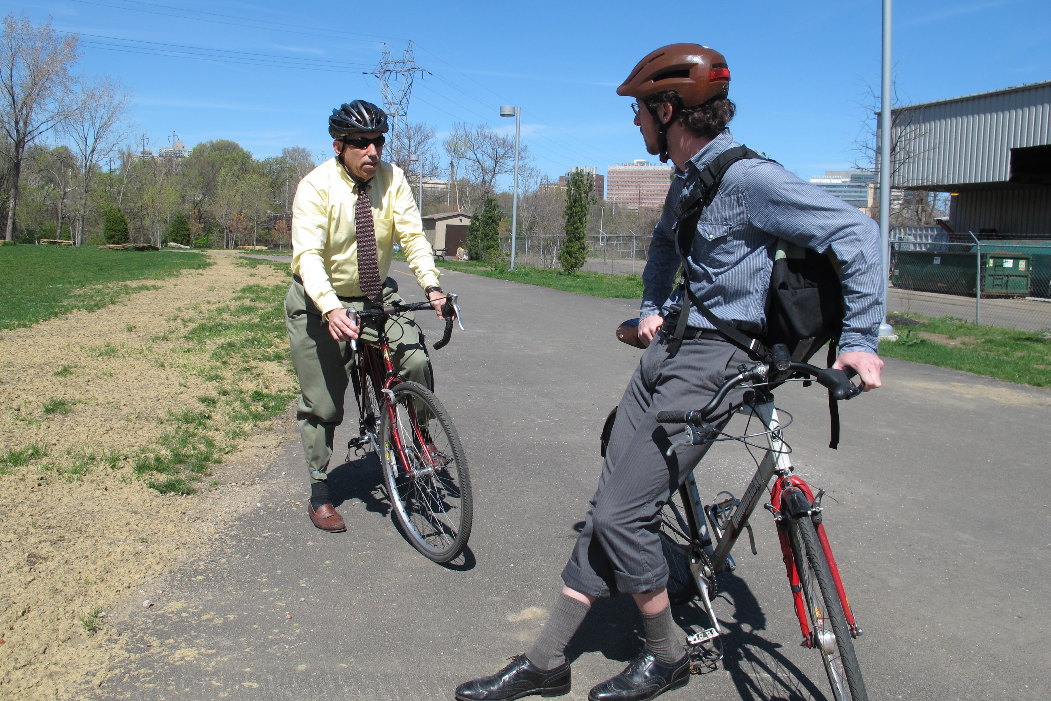
<path id="1" fill-rule="evenodd" d="M 518 235 L 515 241 L 515 265 L 560 268 L 558 249 L 565 236 Z M 583 270 L 618 274 L 642 273 L 650 253 L 652 236 L 589 235 L 588 263 Z M 511 252 L 511 236 L 500 236 L 500 250 Z"/>

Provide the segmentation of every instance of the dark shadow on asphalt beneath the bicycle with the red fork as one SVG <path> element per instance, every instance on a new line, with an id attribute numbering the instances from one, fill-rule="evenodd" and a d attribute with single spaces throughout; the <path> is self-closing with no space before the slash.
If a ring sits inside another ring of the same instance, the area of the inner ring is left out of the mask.
<path id="1" fill-rule="evenodd" d="M 729 674 L 741 699 L 828 701 L 807 673 L 780 652 L 782 642 L 759 633 L 766 628 L 766 614 L 743 579 L 734 574 L 722 575 L 714 603 L 717 613 L 720 609 L 725 611 L 727 604 L 734 607 L 731 618 L 719 619 L 728 632 L 722 638 L 724 653 L 720 666 Z M 672 613 L 683 628 L 700 631 L 708 626 L 707 616 L 695 602 L 673 606 Z M 572 662 L 584 653 L 600 653 L 606 659 L 626 663 L 642 652 L 644 636 L 642 618 L 632 597 L 598 599 L 565 647 L 565 657 Z M 703 683 L 703 677 L 694 683 Z"/>

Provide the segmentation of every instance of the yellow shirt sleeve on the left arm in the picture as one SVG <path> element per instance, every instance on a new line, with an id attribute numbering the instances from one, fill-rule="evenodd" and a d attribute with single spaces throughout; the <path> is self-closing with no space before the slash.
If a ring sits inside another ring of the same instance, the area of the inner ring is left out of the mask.
<path id="1" fill-rule="evenodd" d="M 303 288 L 323 315 L 343 306 L 325 268 L 328 231 L 325 193 L 305 179 L 292 202 L 292 272 L 303 279 Z"/>

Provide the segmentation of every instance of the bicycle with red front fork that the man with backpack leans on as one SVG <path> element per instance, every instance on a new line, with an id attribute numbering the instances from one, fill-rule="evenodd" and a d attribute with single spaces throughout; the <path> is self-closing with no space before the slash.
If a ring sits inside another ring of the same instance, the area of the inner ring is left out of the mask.
<path id="1" fill-rule="evenodd" d="M 772 387 L 785 382 L 803 382 L 804 386 L 817 382 L 828 388 L 833 398 L 849 399 L 861 389 L 854 387 L 842 370 L 790 363 L 786 349 L 780 356 L 778 350 L 775 348 L 775 357 L 783 359 L 770 365 L 742 366 L 739 374 L 725 382 L 704 408 L 665 411 L 657 415 L 662 424 L 685 425 L 685 437 L 668 448 L 668 455 L 681 446 L 720 440 L 739 440 L 751 446 L 753 440 L 766 440 L 766 446 L 760 446 L 766 453 L 757 460 L 758 469 L 742 498 L 720 492 L 715 502 L 702 507 L 691 471 L 678 492 L 662 508 L 660 536 L 671 570 L 668 595 L 677 604 L 700 599 L 710 626 L 687 636 L 687 648 L 695 672 L 715 668 L 722 659 L 721 636 L 725 633 L 712 605 L 717 591 L 716 578 L 735 569 L 730 551 L 745 531 L 751 552 L 756 554 L 756 540 L 748 519 L 768 490 L 769 501 L 764 507 L 774 515 L 777 524 L 794 613 L 803 635 L 802 644 L 821 655 L 837 701 L 867 701 L 853 648 L 853 640 L 862 630 L 847 602 L 825 534 L 821 507 L 824 491 L 819 490 L 815 495 L 806 481 L 792 474 L 790 450 L 782 440 L 782 431 L 791 422 L 790 415 L 782 410 L 789 420 L 781 422 L 770 392 Z M 720 409 L 720 406 L 730 390 L 745 384 L 749 384 L 749 389 L 736 412 L 747 414 L 748 425 L 744 435 L 727 435 L 723 430 L 734 412 L 728 411 L 728 407 Z M 716 417 L 714 424 L 708 422 L 710 417 Z M 749 433 L 753 418 L 759 420 L 761 430 Z"/>

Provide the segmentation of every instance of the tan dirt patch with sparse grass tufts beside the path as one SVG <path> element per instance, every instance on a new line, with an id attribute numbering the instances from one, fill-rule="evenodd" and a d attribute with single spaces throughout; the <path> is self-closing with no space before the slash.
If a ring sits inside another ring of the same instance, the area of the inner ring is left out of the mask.
<path id="1" fill-rule="evenodd" d="M 148 599 L 164 571 L 254 503 L 254 475 L 293 437 L 277 322 L 238 326 L 280 314 L 287 275 L 213 260 L 126 304 L 0 339 L 2 698 L 102 684 L 120 648 L 114 607 Z M 149 487 L 172 480 L 172 493 Z"/>

